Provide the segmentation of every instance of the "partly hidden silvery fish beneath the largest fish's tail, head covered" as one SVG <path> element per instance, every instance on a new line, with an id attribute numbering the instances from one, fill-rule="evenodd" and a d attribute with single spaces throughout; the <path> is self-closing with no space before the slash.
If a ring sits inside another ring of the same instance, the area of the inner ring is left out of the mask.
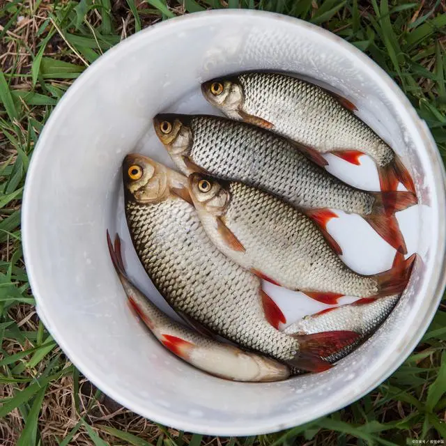
<path id="1" fill-rule="evenodd" d="M 360 334 L 357 341 L 336 353 L 324 357 L 330 364 L 341 360 L 357 346 L 371 337 L 399 301 L 399 295 L 385 298 L 362 298 L 351 304 L 323 309 L 321 312 L 304 316 L 284 329 L 288 334 L 312 334 L 325 330 L 353 330 Z M 291 369 L 291 374 L 302 371 Z"/>

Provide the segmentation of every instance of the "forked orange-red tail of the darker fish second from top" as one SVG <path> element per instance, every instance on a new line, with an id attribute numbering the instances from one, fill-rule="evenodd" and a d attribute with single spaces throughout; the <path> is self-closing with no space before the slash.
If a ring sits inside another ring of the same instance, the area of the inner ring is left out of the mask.
<path id="1" fill-rule="evenodd" d="M 406 242 L 394 213 L 416 204 L 416 195 L 412 192 L 399 191 L 372 193 L 374 204 L 371 213 L 362 217 L 387 243 L 406 254 Z"/>

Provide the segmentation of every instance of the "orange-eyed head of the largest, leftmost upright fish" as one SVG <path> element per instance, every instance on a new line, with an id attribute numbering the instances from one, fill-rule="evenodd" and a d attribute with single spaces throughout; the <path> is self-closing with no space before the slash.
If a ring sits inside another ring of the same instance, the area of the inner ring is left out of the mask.
<path id="1" fill-rule="evenodd" d="M 125 199 L 137 203 L 162 201 L 169 193 L 169 169 L 159 162 L 137 153 L 130 153 L 123 161 Z"/>

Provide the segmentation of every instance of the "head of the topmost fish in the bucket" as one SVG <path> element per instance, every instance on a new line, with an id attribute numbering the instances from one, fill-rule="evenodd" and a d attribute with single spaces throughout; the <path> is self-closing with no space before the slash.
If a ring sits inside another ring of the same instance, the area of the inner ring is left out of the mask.
<path id="1" fill-rule="evenodd" d="M 243 88 L 236 77 L 220 77 L 201 84 L 201 92 L 210 104 L 227 116 L 240 120 L 238 111 L 243 107 Z"/>

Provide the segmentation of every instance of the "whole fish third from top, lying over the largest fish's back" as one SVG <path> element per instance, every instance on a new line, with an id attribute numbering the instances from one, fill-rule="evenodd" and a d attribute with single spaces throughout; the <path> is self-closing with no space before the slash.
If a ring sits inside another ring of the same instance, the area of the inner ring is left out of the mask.
<path id="1" fill-rule="evenodd" d="M 189 181 L 201 224 L 215 246 L 269 282 L 328 304 L 343 295 L 378 298 L 406 288 L 416 254 L 385 272 L 360 275 L 333 252 L 307 215 L 272 194 L 199 172 Z"/>

